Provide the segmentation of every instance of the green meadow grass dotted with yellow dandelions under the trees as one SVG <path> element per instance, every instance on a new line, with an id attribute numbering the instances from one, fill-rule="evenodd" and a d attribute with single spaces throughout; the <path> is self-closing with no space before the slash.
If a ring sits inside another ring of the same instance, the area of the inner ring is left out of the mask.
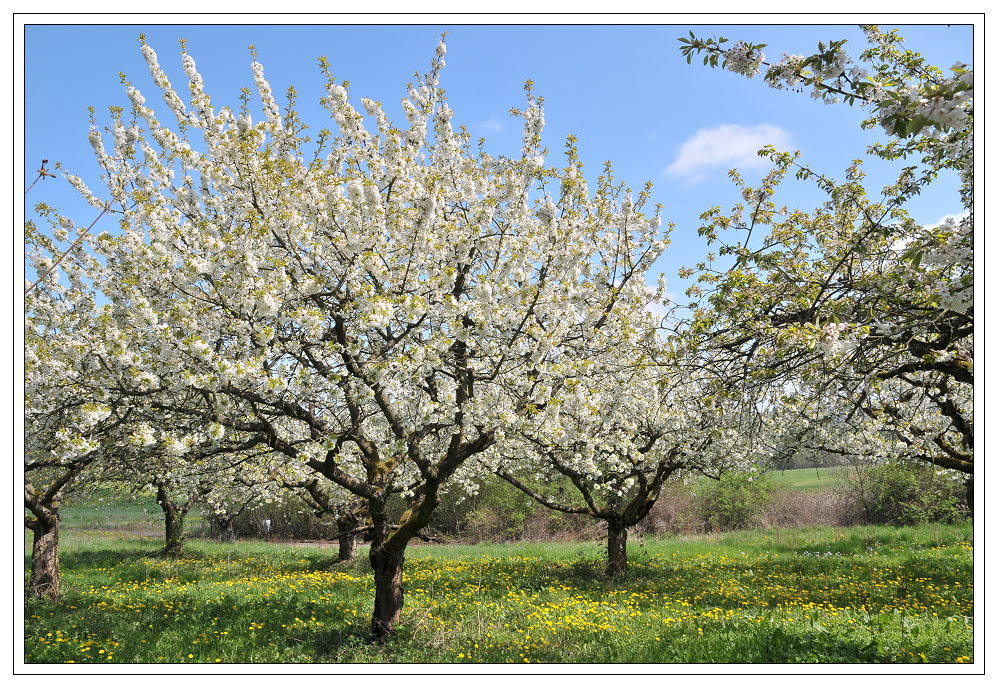
<path id="1" fill-rule="evenodd" d="M 797 663 L 971 661 L 972 529 L 807 528 L 594 543 L 411 547 L 398 635 L 366 642 L 364 551 L 67 532 L 64 597 L 25 607 L 25 661 Z"/>

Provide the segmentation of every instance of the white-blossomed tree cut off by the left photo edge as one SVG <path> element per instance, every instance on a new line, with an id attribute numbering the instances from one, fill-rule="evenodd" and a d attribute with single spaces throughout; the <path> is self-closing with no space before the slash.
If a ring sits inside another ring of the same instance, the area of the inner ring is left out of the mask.
<path id="1" fill-rule="evenodd" d="M 48 277 L 24 303 L 24 507 L 33 536 L 28 594 L 58 599 L 59 508 L 81 480 L 102 473 L 131 409 L 109 389 L 101 360 L 107 320 L 88 280 L 96 261 L 84 242 L 63 250 L 72 222 L 43 213 L 51 231 L 29 223 L 25 232 L 29 265 Z"/>

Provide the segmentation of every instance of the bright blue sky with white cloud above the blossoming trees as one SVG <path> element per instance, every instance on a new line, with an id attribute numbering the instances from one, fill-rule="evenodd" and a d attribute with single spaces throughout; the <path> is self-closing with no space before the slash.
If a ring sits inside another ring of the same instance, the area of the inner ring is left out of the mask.
<path id="1" fill-rule="evenodd" d="M 956 61 L 973 62 L 971 26 L 900 28 L 907 47 L 933 64 L 948 68 Z M 610 160 L 618 178 L 635 190 L 646 180 L 654 183 L 653 201 L 664 206 L 663 219 L 676 224 L 673 244 L 656 268 L 680 291 L 676 270 L 704 252 L 696 233 L 698 215 L 738 200 L 727 179 L 729 168 L 738 167 L 748 179 L 758 178 L 765 168 L 754 150 L 772 143 L 801 150 L 814 169 L 837 176 L 852 159 L 865 157 L 867 145 L 885 138 L 883 132 L 859 128 L 859 108 L 824 105 L 807 94 L 770 89 L 761 79 L 711 70 L 696 61 L 687 65 L 677 39 L 690 30 L 698 36 L 767 43 L 764 51 L 773 60 L 783 52 L 813 52 L 819 40 L 846 38 L 846 49 L 854 55 L 866 45 L 859 29 L 849 25 L 29 24 L 24 27 L 25 183 L 34 179 L 39 162 L 48 159 L 50 167 L 59 161 L 95 191 L 100 188 L 87 142 L 87 107 L 96 109 L 99 124 L 109 122 L 108 106 L 127 110 L 119 72 L 150 105 L 165 111 L 139 51 L 140 33 L 178 89 L 184 83 L 178 39 L 186 38 L 216 106 L 235 106 L 239 89 L 252 88 L 247 47 L 253 44 L 275 95 L 293 84 L 303 119 L 317 131 L 330 126 L 318 106 L 323 95 L 320 56 L 329 58 L 337 79 L 350 82 L 351 100 L 358 109 L 366 96 L 384 103 L 390 117 L 401 119 L 398 103 L 406 82 L 426 70 L 438 36 L 446 31 L 447 67 L 441 85 L 455 111 L 455 123 L 485 137 L 486 150 L 493 155 L 515 154 L 521 134 L 519 120 L 509 109 L 524 105 L 523 83 L 532 80 L 534 92 L 545 100 L 544 139 L 551 162 L 560 162 L 565 137 L 571 133 L 578 137 L 591 176 Z M 870 186 L 875 187 L 889 181 L 893 168 L 878 161 L 868 169 Z M 933 193 L 916 199 L 910 206 L 916 218 L 931 223 L 959 212 L 956 188 L 955 180 L 944 179 Z M 813 188 L 794 183 L 786 187 L 782 200 L 808 208 L 821 197 Z M 46 179 L 32 190 L 26 198 L 28 217 L 30 208 L 41 202 L 84 226 L 96 214 L 61 178 Z M 111 218 L 102 222 L 95 230 L 113 228 Z"/>

